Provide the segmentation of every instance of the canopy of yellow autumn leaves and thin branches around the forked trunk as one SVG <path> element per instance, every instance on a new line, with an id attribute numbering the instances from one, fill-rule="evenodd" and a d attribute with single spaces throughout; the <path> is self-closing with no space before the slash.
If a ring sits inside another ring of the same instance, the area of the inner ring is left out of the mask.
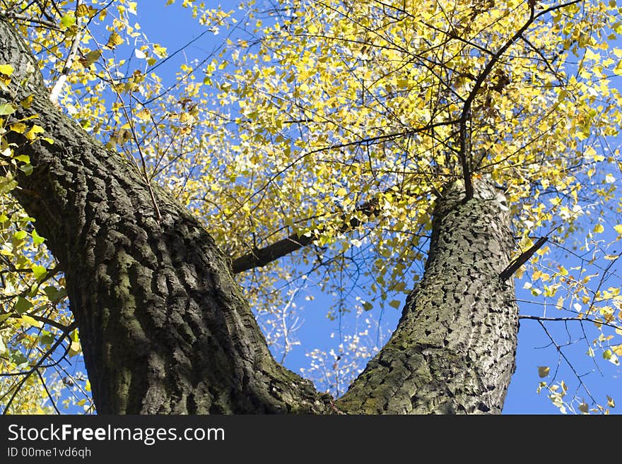
<path id="1" fill-rule="evenodd" d="M 525 261 L 505 277 L 522 278 L 541 307 L 521 316 L 574 372 L 558 379 L 541 366 L 539 389 L 563 412 L 614 407 L 613 392 L 592 397 L 551 325 L 587 343 L 604 375 L 618 367 L 615 1 L 182 6 L 223 40 L 187 56 L 174 82 L 160 71 L 191 49 L 143 35 L 142 3 L 2 0 L 0 14 L 28 41 L 52 102 L 201 220 L 281 354 L 307 280 L 332 297 L 332 318 L 399 309 L 423 273 L 435 198 L 456 181 L 469 198 L 485 179 L 507 199 L 514 258 Z M 3 95 L 13 65 L 0 63 Z M 53 412 L 64 398 L 91 411 L 88 379 L 65 370 L 81 343 L 64 270 L 12 194 L 16 173 L 33 168 L 7 134 L 54 143 L 45 121 L 12 117 L 30 104 L 0 100 L 0 403 Z M 344 393 L 364 367 L 358 358 L 374 354 L 354 335 L 322 384 L 331 393 Z"/>

